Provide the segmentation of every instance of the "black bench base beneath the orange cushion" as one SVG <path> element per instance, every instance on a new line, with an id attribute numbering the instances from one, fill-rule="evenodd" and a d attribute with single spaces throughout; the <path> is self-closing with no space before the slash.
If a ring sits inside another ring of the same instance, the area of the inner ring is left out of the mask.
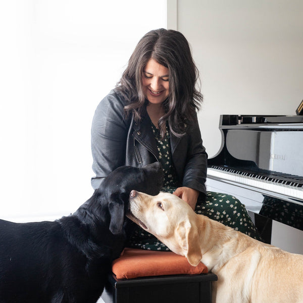
<path id="1" fill-rule="evenodd" d="M 117 279 L 114 274 L 102 294 L 105 303 L 211 303 L 213 273 Z"/>

